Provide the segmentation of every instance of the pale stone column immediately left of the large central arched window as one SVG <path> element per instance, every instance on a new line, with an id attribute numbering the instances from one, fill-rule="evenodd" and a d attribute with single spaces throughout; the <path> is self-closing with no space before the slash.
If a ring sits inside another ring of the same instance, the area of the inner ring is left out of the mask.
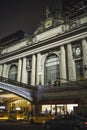
<path id="1" fill-rule="evenodd" d="M 37 85 L 42 82 L 42 77 L 41 77 L 41 54 L 37 54 Z M 40 81 L 41 80 L 41 81 Z"/>

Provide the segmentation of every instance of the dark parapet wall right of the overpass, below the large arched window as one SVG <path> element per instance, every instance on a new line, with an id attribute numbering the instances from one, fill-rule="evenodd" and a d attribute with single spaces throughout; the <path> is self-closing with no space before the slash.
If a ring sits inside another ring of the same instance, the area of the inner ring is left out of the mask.
<path id="1" fill-rule="evenodd" d="M 65 79 L 62 79 L 63 81 Z M 47 85 L 38 85 L 38 90 L 40 92 L 47 92 L 47 91 L 65 91 L 65 90 L 80 90 L 86 89 L 87 90 L 87 79 L 78 80 L 78 81 L 69 81 L 65 80 L 65 82 L 56 81 L 56 83 L 48 83 Z"/>

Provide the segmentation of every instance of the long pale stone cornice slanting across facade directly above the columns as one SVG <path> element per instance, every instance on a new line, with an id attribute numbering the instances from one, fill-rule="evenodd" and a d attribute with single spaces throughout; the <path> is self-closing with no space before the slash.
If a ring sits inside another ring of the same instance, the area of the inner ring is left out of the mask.
<path id="1" fill-rule="evenodd" d="M 81 39 L 84 39 L 87 37 L 87 31 L 85 32 L 82 32 L 80 34 L 76 34 L 76 35 L 73 35 L 73 36 L 70 36 L 70 37 L 67 37 L 67 38 L 64 38 L 64 39 L 60 39 L 60 40 L 56 40 L 54 42 L 43 42 L 42 43 L 38 43 L 38 45 L 34 44 L 33 46 L 31 47 L 27 47 L 26 49 L 22 49 L 18 52 L 14 52 L 13 54 L 9 54 L 4 57 L 0 57 L 0 64 L 2 63 L 5 63 L 5 62 L 9 62 L 9 61 L 12 61 L 12 60 L 17 60 L 19 58 L 23 58 L 23 57 L 26 57 L 28 55 L 33 55 L 33 54 L 36 54 L 36 53 L 39 53 L 41 51 L 44 51 L 44 50 L 49 50 L 49 49 L 52 49 L 52 48 L 55 48 L 55 47 L 59 47 L 59 46 L 63 46 L 65 44 L 69 44 L 71 42 L 74 42 L 76 40 L 81 40 Z"/>

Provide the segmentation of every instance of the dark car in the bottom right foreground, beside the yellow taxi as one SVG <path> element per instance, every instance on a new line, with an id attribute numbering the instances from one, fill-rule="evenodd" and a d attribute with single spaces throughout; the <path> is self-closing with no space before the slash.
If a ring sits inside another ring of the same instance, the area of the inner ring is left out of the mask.
<path id="1" fill-rule="evenodd" d="M 87 119 L 74 114 L 65 114 L 44 121 L 43 126 L 46 130 L 87 130 Z"/>

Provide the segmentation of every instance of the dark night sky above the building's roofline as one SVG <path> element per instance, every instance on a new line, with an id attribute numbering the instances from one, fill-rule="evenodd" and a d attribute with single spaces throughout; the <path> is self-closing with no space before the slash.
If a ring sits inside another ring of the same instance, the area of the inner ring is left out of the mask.
<path id="1" fill-rule="evenodd" d="M 18 30 L 31 35 L 40 25 L 47 6 L 60 8 L 61 0 L 0 0 L 0 39 Z"/>

